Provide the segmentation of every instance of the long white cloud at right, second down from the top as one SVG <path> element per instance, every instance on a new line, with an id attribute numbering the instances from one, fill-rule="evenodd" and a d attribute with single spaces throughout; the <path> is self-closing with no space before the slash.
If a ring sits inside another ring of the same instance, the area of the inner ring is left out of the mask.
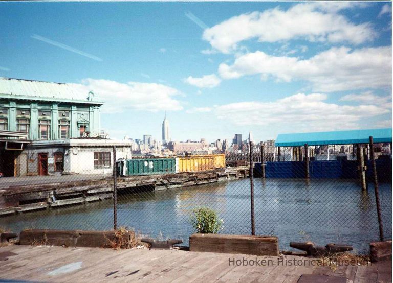
<path id="1" fill-rule="evenodd" d="M 310 59 L 271 56 L 257 51 L 219 66 L 220 76 L 234 79 L 246 75 L 271 75 L 280 81 L 305 80 L 314 91 L 381 88 L 391 86 L 391 48 L 331 48 Z"/>

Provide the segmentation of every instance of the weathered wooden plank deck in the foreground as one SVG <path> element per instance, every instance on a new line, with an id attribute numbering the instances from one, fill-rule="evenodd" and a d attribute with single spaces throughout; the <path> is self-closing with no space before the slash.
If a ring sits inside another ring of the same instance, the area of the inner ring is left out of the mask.
<path id="1" fill-rule="evenodd" d="M 2 257 L 8 260 L 3 261 Z M 325 274 L 331 279 L 346 278 L 346 282 L 391 282 L 391 262 L 332 270 L 311 265 L 277 265 L 277 256 L 257 257 L 271 260 L 274 264 L 269 266 L 234 266 L 229 265 L 229 258 L 254 260 L 255 256 L 10 245 L 0 248 L 0 281 L 297 282 L 302 274 Z"/>

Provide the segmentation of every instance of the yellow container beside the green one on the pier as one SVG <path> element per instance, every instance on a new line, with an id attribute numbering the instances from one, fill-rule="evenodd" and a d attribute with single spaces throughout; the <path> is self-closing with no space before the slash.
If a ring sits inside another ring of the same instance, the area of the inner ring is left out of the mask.
<path id="1" fill-rule="evenodd" d="M 177 172 L 206 171 L 225 167 L 225 154 L 178 157 Z"/>

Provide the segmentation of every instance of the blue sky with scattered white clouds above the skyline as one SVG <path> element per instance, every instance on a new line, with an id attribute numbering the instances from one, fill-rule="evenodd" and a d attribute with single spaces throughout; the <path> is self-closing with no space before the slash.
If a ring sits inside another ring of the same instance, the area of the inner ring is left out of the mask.
<path id="1" fill-rule="evenodd" d="M 389 2 L 2 2 L 0 27 L 0 77 L 94 91 L 112 138 L 391 127 Z"/>

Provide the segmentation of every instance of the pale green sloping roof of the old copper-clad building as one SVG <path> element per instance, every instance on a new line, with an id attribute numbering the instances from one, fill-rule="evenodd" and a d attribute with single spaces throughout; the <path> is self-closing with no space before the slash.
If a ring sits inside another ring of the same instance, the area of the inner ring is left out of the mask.
<path id="1" fill-rule="evenodd" d="M 85 93 L 73 84 L 0 78 L 0 97 L 2 98 L 103 104 L 99 101 L 88 100 L 88 96 L 89 92 Z"/>

